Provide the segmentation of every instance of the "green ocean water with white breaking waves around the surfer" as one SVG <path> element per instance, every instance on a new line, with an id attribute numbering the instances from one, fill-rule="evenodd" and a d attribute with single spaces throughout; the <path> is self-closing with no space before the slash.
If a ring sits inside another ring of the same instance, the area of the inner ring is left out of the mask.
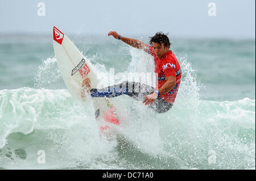
<path id="1" fill-rule="evenodd" d="M 106 77 L 112 68 L 152 66 L 146 53 L 111 37 L 69 38 Z M 113 98 L 125 126 L 108 141 L 98 135 L 92 103 L 73 102 L 51 36 L 1 35 L 0 168 L 255 168 L 255 39 L 171 40 L 183 70 L 174 107 L 156 115 L 126 96 Z"/>

